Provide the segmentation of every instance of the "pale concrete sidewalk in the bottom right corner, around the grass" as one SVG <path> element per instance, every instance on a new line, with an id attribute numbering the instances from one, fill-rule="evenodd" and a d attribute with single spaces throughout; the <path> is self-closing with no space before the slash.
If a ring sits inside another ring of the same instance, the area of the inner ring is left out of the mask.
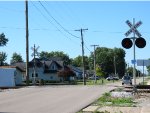
<path id="1" fill-rule="evenodd" d="M 147 85 L 150 85 L 150 80 L 147 82 Z M 104 112 L 108 111 L 109 113 L 150 113 L 150 93 L 141 94 L 142 96 L 138 99 L 138 107 L 112 107 L 112 106 L 88 106 L 83 109 L 83 113 L 93 113 L 94 111 Z"/>

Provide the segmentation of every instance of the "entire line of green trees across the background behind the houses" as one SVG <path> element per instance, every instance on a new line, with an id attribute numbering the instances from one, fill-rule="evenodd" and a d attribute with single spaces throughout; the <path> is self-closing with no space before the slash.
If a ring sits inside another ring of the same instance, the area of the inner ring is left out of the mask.
<path id="1" fill-rule="evenodd" d="M 6 46 L 8 38 L 5 37 L 4 33 L 0 34 L 0 46 Z M 97 47 L 95 50 L 96 53 L 96 66 L 100 67 L 101 72 L 104 74 L 104 77 L 107 77 L 109 74 L 116 74 L 119 77 L 122 77 L 125 72 L 130 72 L 131 69 L 127 69 L 125 62 L 125 51 L 122 48 L 107 48 L 107 47 Z M 73 65 L 76 67 L 82 67 L 82 56 L 77 56 L 75 58 L 70 58 L 69 55 L 65 54 L 63 51 L 42 51 L 39 54 L 39 58 L 61 58 L 66 65 Z M 0 52 L 0 65 L 9 65 L 6 63 L 7 54 L 6 52 Z M 85 69 L 93 70 L 94 69 L 94 55 L 91 53 L 89 56 L 84 56 L 85 59 Z M 18 53 L 13 53 L 10 61 L 10 65 L 15 62 L 24 62 L 22 56 Z M 115 68 L 116 67 L 116 68 Z M 150 68 L 148 68 L 150 71 Z M 137 70 L 138 71 L 138 70 Z"/>

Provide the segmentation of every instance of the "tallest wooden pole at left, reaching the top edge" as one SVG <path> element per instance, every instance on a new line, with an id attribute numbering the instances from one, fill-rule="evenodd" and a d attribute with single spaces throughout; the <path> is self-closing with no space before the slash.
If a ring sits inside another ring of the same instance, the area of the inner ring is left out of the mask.
<path id="1" fill-rule="evenodd" d="M 26 17 L 26 85 L 29 85 L 29 31 L 28 31 L 28 0 L 25 1 Z"/>

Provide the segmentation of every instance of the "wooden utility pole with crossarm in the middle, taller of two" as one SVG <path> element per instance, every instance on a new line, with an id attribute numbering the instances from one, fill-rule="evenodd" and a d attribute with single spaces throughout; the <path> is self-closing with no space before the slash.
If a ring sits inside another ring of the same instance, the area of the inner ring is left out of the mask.
<path id="1" fill-rule="evenodd" d="M 83 31 L 88 30 L 88 29 L 79 29 L 75 31 L 80 31 L 81 32 L 81 44 L 82 44 L 82 66 L 83 66 L 83 84 L 86 85 L 86 80 L 85 80 L 85 64 L 84 64 L 84 40 L 83 40 Z"/>

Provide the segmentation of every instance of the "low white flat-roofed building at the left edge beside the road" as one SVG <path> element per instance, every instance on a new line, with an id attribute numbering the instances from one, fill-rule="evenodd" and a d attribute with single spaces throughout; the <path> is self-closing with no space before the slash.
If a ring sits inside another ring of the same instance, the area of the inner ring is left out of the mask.
<path id="1" fill-rule="evenodd" d="M 22 84 L 22 70 L 16 66 L 0 66 L 0 87 Z"/>

